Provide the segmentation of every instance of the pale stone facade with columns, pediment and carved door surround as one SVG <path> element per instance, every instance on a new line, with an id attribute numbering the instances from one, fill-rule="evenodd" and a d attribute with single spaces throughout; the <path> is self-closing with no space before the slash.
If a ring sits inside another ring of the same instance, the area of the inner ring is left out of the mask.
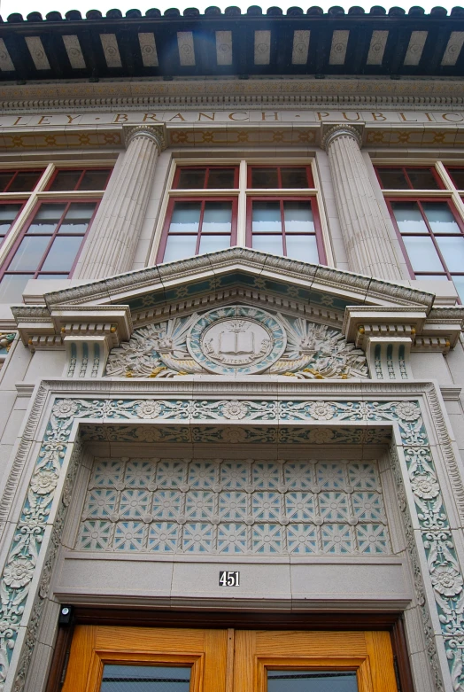
<path id="1" fill-rule="evenodd" d="M 464 307 L 374 169 L 434 167 L 464 219 L 461 87 L 135 83 L 0 90 L 2 168 L 113 168 L 73 276 L 0 305 L 0 690 L 45 689 L 60 603 L 226 602 L 401 612 L 415 692 L 464 692 Z M 311 167 L 325 265 L 246 246 L 251 163 Z M 236 246 L 157 263 L 182 165 L 237 168 Z"/>

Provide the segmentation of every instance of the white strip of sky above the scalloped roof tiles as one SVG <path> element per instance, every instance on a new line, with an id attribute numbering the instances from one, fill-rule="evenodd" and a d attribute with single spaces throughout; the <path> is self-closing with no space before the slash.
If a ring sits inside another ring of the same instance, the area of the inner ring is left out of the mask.
<path id="1" fill-rule="evenodd" d="M 221 2 L 220 0 L 0 0 L 0 14 L 4 19 L 8 17 L 12 12 L 20 12 L 23 17 L 26 17 L 29 12 L 41 12 L 43 17 L 47 12 L 52 10 L 58 10 L 65 15 L 68 10 L 80 10 L 82 16 L 89 10 L 100 10 L 100 12 L 108 12 L 112 8 L 117 8 L 121 12 L 127 12 L 133 8 L 140 10 L 144 13 L 151 7 L 158 7 L 161 12 L 164 12 L 168 7 L 177 7 L 179 10 L 184 10 L 186 7 L 197 7 L 200 12 L 204 12 L 205 8 L 209 5 L 216 5 L 224 10 L 228 5 L 237 5 L 242 9 L 242 12 L 246 12 L 247 7 L 251 4 L 259 4 L 256 0 L 248 0 L 248 2 L 241 2 L 241 0 L 226 0 Z M 387 10 L 393 5 L 404 7 L 406 12 L 414 4 L 419 4 L 424 8 L 425 12 L 430 12 L 432 7 L 436 5 L 441 5 L 445 7 L 448 12 L 456 4 L 459 4 L 457 0 L 454 2 L 439 2 L 439 0 L 416 0 L 416 2 L 382 2 L 382 0 L 372 0 L 372 2 L 360 2 L 359 0 L 352 0 L 351 2 L 343 2 L 341 0 L 305 0 L 305 3 L 298 2 L 298 0 L 282 0 L 282 2 L 267 2 L 262 4 L 263 11 L 266 12 L 267 7 L 272 5 L 279 5 L 282 10 L 285 10 L 292 5 L 298 5 L 302 7 L 303 10 L 307 10 L 311 5 L 319 5 L 324 12 L 327 12 L 329 7 L 333 5 L 339 5 L 344 7 L 345 11 L 348 10 L 352 5 L 360 5 L 368 12 L 370 7 L 374 4 L 381 4 Z"/>

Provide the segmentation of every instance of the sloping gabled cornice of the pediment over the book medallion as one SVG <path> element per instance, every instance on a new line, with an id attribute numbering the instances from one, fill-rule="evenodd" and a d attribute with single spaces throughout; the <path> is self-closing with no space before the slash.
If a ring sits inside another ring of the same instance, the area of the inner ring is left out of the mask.
<path id="1" fill-rule="evenodd" d="M 45 295 L 47 306 L 128 305 L 131 312 L 242 286 L 344 311 L 347 305 L 431 307 L 434 296 L 322 265 L 233 247 Z"/>

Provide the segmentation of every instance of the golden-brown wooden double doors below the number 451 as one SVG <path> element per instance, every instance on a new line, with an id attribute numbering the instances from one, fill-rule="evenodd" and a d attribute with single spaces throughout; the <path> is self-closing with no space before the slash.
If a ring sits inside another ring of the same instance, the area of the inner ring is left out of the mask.
<path id="1" fill-rule="evenodd" d="M 100 692 L 105 665 L 189 669 L 189 692 L 268 692 L 276 672 L 345 672 L 357 692 L 397 692 L 388 632 L 77 626 L 63 692 Z"/>

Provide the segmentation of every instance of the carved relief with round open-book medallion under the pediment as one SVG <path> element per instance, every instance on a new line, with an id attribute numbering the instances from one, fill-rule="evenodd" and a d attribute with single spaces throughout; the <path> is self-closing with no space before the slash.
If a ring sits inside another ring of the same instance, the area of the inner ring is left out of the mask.
<path id="1" fill-rule="evenodd" d="M 213 374 L 367 377 L 365 355 L 325 324 L 229 305 L 135 330 L 112 350 L 109 377 Z"/>

